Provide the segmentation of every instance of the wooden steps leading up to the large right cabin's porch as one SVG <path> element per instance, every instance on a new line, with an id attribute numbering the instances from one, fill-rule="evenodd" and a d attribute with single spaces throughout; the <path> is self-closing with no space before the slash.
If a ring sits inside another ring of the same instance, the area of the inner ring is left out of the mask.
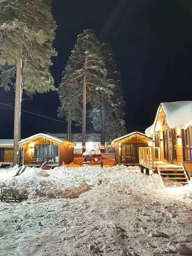
<path id="1" fill-rule="evenodd" d="M 163 182 L 166 183 L 178 183 L 179 184 L 188 184 L 188 177 L 185 171 L 183 164 L 172 165 L 172 164 L 164 164 L 156 162 L 158 174 L 161 175 Z"/>

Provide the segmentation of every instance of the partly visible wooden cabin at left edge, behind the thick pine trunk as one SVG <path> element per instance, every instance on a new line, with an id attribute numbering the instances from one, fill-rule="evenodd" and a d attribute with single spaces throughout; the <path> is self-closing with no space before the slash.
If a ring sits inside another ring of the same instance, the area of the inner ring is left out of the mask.
<path id="1" fill-rule="evenodd" d="M 0 140 L 0 167 L 13 163 L 13 139 Z"/>

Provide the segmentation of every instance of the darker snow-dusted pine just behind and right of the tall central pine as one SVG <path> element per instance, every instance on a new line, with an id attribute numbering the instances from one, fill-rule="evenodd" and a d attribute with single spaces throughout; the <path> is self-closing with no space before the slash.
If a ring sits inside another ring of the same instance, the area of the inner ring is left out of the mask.
<path id="1" fill-rule="evenodd" d="M 117 138 L 126 133 L 125 102 L 122 96 L 121 76 L 113 57 L 110 44 L 102 44 L 102 51 L 107 69 L 107 83 L 110 93 L 101 94 L 100 101 L 93 104 L 91 113 L 95 130 L 101 131 L 101 145 L 105 145 L 105 134 Z"/>

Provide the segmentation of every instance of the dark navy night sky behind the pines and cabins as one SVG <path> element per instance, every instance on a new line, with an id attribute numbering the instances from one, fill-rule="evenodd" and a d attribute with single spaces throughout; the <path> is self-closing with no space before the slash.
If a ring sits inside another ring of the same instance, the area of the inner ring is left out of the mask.
<path id="1" fill-rule="evenodd" d="M 58 26 L 58 56 L 51 67 L 55 86 L 77 35 L 92 28 L 99 40 L 111 43 L 121 71 L 127 132 L 144 132 L 161 102 L 192 100 L 190 0 L 53 0 L 53 16 Z M 14 92 L 0 88 L 0 102 L 14 105 Z M 24 100 L 22 108 L 58 119 L 59 106 L 57 92 L 49 92 Z M 14 110 L 0 104 L 1 139 L 13 138 L 13 118 Z M 66 133 L 66 127 L 22 112 L 22 138 L 39 132 Z M 72 132 L 78 131 L 72 127 Z"/>

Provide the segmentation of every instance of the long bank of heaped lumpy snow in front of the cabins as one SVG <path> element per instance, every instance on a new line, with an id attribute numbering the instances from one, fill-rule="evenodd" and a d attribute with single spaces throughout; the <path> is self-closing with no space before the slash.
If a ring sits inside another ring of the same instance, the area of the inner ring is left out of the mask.
<path id="1" fill-rule="evenodd" d="M 49 198 L 64 197 L 67 191 L 74 187 L 80 187 L 83 182 L 88 185 L 98 185 L 100 180 L 104 185 L 122 184 L 125 187 L 137 187 L 139 189 L 164 188 L 161 177 L 157 174 L 145 175 L 138 172 L 138 167 L 114 166 L 101 168 L 96 166 L 84 166 L 79 168 L 56 167 L 47 172 L 38 168 L 27 167 L 21 175 L 13 177 L 18 167 L 2 170 L 0 186 L 11 186 L 20 195 L 27 194 L 29 198 L 39 195 Z"/>

